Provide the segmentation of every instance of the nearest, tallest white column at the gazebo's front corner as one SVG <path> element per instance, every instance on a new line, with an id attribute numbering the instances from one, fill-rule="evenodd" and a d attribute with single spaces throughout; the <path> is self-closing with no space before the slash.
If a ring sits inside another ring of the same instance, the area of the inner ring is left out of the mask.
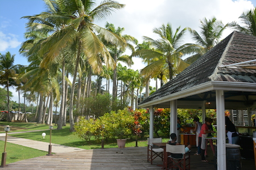
<path id="1" fill-rule="evenodd" d="M 226 131 L 224 91 L 216 90 L 217 112 L 217 169 L 226 169 Z"/>

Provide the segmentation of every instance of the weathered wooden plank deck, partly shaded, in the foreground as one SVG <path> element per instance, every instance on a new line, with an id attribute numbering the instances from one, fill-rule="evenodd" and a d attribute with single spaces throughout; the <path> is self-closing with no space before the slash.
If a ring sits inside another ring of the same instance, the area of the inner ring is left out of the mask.
<path id="1" fill-rule="evenodd" d="M 193 155 L 196 147 L 191 151 L 191 169 L 214 170 L 213 155 L 208 147 L 209 163 L 201 162 L 200 156 Z M 242 160 L 242 164 L 243 164 Z M 254 161 L 246 160 L 242 169 L 254 169 Z M 37 158 L 11 163 L 2 169 L 161 169 L 156 166 L 162 164 L 160 159 L 153 164 L 147 162 L 146 147 L 105 148 L 77 151 L 53 156 L 39 156 Z"/>

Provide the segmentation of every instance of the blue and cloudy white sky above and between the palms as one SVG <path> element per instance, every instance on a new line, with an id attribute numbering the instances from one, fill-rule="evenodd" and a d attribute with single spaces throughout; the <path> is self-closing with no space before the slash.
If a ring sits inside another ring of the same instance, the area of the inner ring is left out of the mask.
<path id="1" fill-rule="evenodd" d="M 95 1 L 100 4 L 101 1 Z M 97 22 L 105 27 L 106 22 L 115 27 L 125 28 L 123 34 L 130 35 L 143 41 L 143 36 L 158 39 L 152 32 L 162 24 L 170 23 L 172 28 L 190 27 L 199 31 L 200 20 L 211 19 L 213 16 L 226 24 L 238 21 L 244 11 L 256 6 L 256 0 L 117 0 L 125 4 L 125 8 L 115 11 L 111 16 Z M 10 52 L 15 54 L 15 65 L 28 65 L 27 59 L 19 54 L 20 44 L 25 41 L 27 19 L 23 16 L 40 14 L 45 10 L 43 0 L 0 0 L 0 53 Z M 223 39 L 233 31 L 227 29 Z M 193 42 L 189 33 L 186 33 L 184 43 Z M 129 52 L 128 52 L 129 53 Z M 184 58 L 183 58 L 184 59 Z M 131 69 L 141 70 L 145 66 L 141 59 L 133 58 L 134 65 Z M 154 83 L 154 82 L 151 82 Z M 155 84 L 155 83 L 154 83 Z M 155 85 L 152 85 L 155 86 Z M 18 94 L 11 89 L 18 101 Z"/>

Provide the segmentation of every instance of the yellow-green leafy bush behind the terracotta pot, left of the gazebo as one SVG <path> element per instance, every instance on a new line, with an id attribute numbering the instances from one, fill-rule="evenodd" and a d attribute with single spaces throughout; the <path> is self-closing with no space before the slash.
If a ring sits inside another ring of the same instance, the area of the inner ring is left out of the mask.
<path id="1" fill-rule="evenodd" d="M 129 137 L 134 128 L 133 112 L 129 112 L 128 109 L 112 111 L 95 120 L 81 117 L 74 127 L 75 134 L 85 141 L 89 141 L 92 135 L 97 141 L 101 140 L 102 135 L 105 139 Z"/>

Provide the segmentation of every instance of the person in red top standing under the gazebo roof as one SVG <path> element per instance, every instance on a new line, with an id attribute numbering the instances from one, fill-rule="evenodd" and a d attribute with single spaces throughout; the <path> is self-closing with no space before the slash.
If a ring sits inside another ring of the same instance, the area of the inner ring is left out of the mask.
<path id="1" fill-rule="evenodd" d="M 199 134 L 199 143 L 201 144 L 201 161 L 202 162 L 208 162 L 207 159 L 205 159 L 205 144 L 206 144 L 206 140 L 205 138 L 207 137 L 208 133 L 214 133 L 214 131 L 209 131 L 208 130 L 208 125 L 212 124 L 212 119 L 211 118 L 207 118 L 207 120 L 205 121 L 205 123 L 202 125 L 201 127 L 201 131 Z"/>

